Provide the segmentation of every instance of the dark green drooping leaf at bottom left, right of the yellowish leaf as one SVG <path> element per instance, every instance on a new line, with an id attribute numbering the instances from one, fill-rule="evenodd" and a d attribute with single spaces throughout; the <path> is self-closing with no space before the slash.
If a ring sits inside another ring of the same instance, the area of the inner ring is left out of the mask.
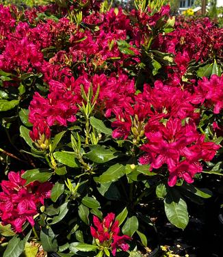
<path id="1" fill-rule="evenodd" d="M 40 230 L 40 240 L 45 252 L 57 252 L 57 239 L 51 228 L 42 228 Z"/>

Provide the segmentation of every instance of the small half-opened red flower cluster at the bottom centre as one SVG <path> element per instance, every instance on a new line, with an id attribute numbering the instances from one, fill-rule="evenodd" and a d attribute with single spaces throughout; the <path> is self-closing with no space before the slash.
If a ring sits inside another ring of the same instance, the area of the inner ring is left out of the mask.
<path id="1" fill-rule="evenodd" d="M 112 255 L 116 256 L 116 249 L 120 248 L 126 252 L 129 249 L 129 245 L 125 242 L 131 240 L 130 236 L 122 235 L 118 236 L 120 228 L 118 227 L 118 220 L 114 221 L 114 213 L 109 213 L 103 221 L 100 221 L 98 217 L 93 217 L 94 226 L 91 226 L 90 232 L 95 239 L 99 239 L 101 245 L 106 243 L 107 247 L 112 247 Z M 107 245 L 108 244 L 108 245 Z"/>

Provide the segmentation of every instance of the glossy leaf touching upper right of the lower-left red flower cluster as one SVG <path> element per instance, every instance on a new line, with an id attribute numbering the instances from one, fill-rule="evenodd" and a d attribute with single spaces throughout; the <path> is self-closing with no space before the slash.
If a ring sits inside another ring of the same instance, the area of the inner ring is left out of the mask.
<path id="1" fill-rule="evenodd" d="M 28 185 L 30 182 L 39 181 L 39 182 L 46 182 L 51 178 L 53 173 L 49 169 L 34 169 L 34 170 L 27 170 L 23 175 L 22 178 L 26 179 L 27 182 L 25 185 Z"/>

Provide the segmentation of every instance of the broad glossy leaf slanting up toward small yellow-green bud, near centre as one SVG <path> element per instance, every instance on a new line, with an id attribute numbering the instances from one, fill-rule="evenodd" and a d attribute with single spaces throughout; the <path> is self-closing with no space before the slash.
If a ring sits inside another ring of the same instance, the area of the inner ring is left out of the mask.
<path id="1" fill-rule="evenodd" d="M 99 176 L 99 182 L 107 183 L 107 182 L 114 182 L 124 176 L 125 170 L 124 165 L 116 163 L 109 167 L 106 172 L 104 172 L 101 176 Z"/>

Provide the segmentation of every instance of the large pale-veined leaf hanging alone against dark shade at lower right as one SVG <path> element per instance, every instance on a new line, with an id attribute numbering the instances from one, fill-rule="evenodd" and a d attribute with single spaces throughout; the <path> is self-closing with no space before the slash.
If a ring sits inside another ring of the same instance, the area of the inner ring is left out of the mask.
<path id="1" fill-rule="evenodd" d="M 168 191 L 164 200 L 164 207 L 166 217 L 170 223 L 177 228 L 185 229 L 189 221 L 187 204 L 176 190 Z"/>

